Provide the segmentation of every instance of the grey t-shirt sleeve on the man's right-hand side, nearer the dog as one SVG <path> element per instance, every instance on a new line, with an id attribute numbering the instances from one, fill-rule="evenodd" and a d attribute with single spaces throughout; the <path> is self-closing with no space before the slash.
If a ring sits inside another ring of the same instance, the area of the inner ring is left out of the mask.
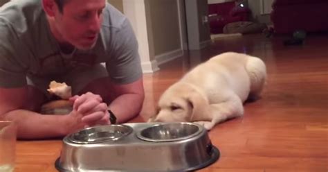
<path id="1" fill-rule="evenodd" d="M 128 19 L 122 24 L 122 28 L 116 31 L 113 39 L 111 56 L 106 67 L 109 76 L 114 83 L 133 83 L 142 77 L 143 71 L 140 65 L 138 42 Z"/>

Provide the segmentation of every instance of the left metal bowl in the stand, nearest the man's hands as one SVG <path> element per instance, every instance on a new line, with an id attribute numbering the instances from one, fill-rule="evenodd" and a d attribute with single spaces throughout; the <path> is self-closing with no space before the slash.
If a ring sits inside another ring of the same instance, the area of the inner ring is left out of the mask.
<path id="1" fill-rule="evenodd" d="M 97 126 L 73 133 L 68 139 L 75 144 L 95 144 L 120 139 L 129 135 L 132 130 L 130 126 L 124 125 Z"/>

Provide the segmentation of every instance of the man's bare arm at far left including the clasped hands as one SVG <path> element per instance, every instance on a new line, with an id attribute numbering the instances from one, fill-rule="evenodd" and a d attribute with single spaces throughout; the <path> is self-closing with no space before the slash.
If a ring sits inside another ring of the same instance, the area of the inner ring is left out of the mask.
<path id="1" fill-rule="evenodd" d="M 30 98 L 32 94 L 34 98 Z M 90 123 L 108 123 L 107 106 L 98 95 L 86 93 L 73 98 L 74 110 L 67 115 L 46 115 L 28 110 L 29 103 L 37 101 L 37 93 L 28 87 L 0 88 L 0 120 L 17 124 L 19 139 L 45 139 L 65 135 L 91 126 Z"/>

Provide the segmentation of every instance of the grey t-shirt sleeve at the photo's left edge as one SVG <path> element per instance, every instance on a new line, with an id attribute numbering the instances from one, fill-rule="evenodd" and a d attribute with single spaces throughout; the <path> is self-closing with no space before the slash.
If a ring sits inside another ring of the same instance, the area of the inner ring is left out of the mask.
<path id="1" fill-rule="evenodd" d="M 12 26 L 0 18 L 0 87 L 26 85 L 26 70 L 19 62 L 19 39 Z"/>

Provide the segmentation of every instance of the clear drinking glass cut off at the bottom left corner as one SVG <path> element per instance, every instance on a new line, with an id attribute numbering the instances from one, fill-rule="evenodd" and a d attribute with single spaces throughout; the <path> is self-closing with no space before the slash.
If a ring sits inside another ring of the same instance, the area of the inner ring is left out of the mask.
<path id="1" fill-rule="evenodd" d="M 17 127 L 12 121 L 0 121 L 0 172 L 12 172 L 15 167 Z"/>

